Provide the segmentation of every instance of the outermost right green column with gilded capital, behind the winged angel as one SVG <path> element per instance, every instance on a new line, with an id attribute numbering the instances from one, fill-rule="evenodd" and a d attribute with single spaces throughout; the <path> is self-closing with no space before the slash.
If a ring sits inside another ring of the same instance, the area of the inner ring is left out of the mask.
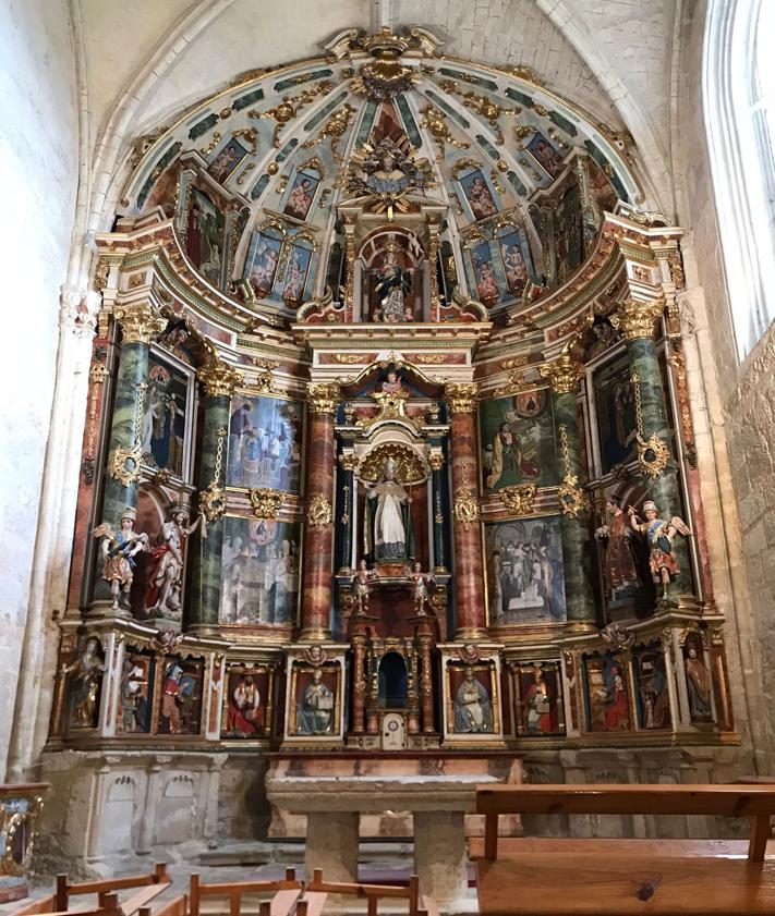
<path id="1" fill-rule="evenodd" d="M 670 445 L 673 433 L 667 423 L 659 358 L 654 344 L 654 326 L 662 318 L 664 307 L 662 300 L 626 300 L 611 316 L 611 321 L 627 341 L 640 437 L 639 463 L 643 469 L 646 492 L 656 503 L 658 517 L 670 518 L 681 514 L 682 502 Z M 692 591 L 689 548 L 680 536 L 673 541 L 673 555 L 679 567 L 674 587 L 677 591 Z"/>

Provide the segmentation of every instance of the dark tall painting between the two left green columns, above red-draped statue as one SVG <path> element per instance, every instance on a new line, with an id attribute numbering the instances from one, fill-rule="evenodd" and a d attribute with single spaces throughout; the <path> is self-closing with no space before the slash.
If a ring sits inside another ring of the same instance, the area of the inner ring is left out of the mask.
<path id="1" fill-rule="evenodd" d="M 148 388 L 143 406 L 141 449 L 143 464 L 187 476 L 189 419 L 192 416 L 192 375 L 152 349 Z"/>

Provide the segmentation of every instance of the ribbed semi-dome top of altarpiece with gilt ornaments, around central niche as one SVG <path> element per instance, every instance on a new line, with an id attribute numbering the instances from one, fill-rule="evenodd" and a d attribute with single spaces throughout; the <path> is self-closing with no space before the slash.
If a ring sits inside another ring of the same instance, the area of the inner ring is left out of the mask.
<path id="1" fill-rule="evenodd" d="M 566 283 L 602 211 L 641 198 L 629 137 L 524 68 L 444 57 L 423 28 L 351 29 L 326 51 L 243 74 L 136 145 L 122 215 L 161 207 L 199 274 L 257 314 L 337 300 L 359 186 L 446 205 L 443 289 L 496 319 Z"/>

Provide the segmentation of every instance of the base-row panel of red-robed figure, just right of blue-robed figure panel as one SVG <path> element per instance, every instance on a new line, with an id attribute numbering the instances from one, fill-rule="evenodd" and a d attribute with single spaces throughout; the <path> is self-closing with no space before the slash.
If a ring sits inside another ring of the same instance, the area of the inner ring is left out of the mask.
<path id="1" fill-rule="evenodd" d="M 558 661 L 519 662 L 513 677 L 517 734 L 547 737 L 565 734 L 562 682 Z"/>

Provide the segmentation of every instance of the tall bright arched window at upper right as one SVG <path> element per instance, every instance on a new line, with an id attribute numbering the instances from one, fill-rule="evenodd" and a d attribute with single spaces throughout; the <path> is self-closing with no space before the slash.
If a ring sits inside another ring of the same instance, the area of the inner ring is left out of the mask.
<path id="1" fill-rule="evenodd" d="M 710 0 L 703 95 L 738 354 L 775 318 L 775 2 Z"/>

